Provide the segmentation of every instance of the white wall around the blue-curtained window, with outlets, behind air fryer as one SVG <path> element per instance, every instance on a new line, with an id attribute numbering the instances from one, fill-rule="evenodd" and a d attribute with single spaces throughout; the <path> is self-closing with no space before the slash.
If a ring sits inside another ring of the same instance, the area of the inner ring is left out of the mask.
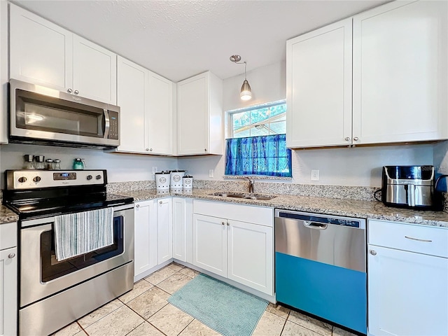
<path id="1" fill-rule="evenodd" d="M 224 111 L 286 98 L 285 62 L 250 71 L 247 73 L 247 79 L 253 93 L 253 99 L 247 102 L 239 99 L 244 74 L 223 81 Z M 293 151 L 292 183 L 380 186 L 382 166 L 433 165 L 434 146 L 419 144 Z M 440 151 L 443 151 L 444 156 L 447 148 L 442 148 Z M 448 158 L 446 162 L 448 167 Z M 189 174 L 192 174 L 195 179 L 223 179 L 224 155 L 179 158 L 178 163 L 179 169 L 188 169 Z M 209 169 L 214 169 L 214 178 L 209 178 Z M 310 180 L 311 169 L 319 169 L 320 181 Z"/>

